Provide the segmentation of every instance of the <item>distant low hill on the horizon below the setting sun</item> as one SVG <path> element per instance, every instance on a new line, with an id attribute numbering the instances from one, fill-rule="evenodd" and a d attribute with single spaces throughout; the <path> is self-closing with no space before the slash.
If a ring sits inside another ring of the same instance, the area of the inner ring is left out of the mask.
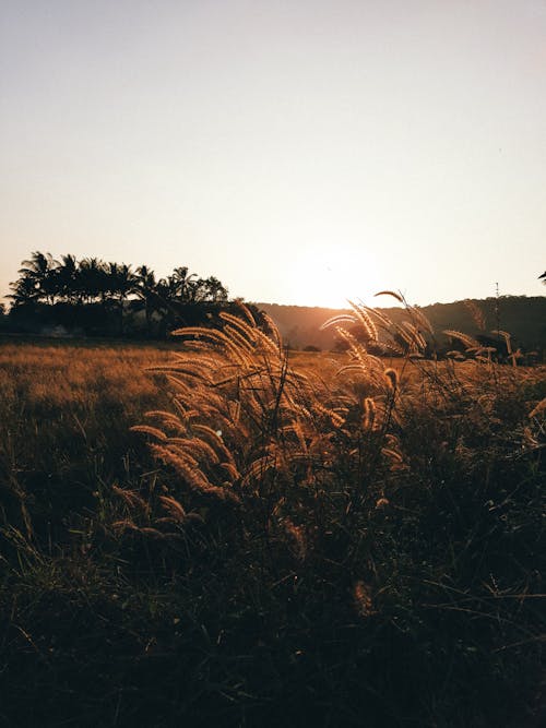
<path id="1" fill-rule="evenodd" d="M 429 319 L 439 343 L 446 337 L 444 329 L 454 329 L 467 334 L 490 334 L 497 329 L 496 305 L 499 308 L 499 327 L 507 331 L 518 346 L 525 350 L 546 350 L 546 296 L 501 296 L 499 299 L 471 299 L 483 312 L 485 330 L 479 331 L 468 308 L 468 300 L 453 303 L 434 303 L 423 307 Z M 293 348 L 317 346 L 331 349 L 335 345 L 335 332 L 332 329 L 321 331 L 321 325 L 330 318 L 342 312 L 341 309 L 325 309 L 306 306 L 281 306 L 277 303 L 257 303 L 278 326 L 283 339 Z M 343 309 L 347 311 L 348 309 Z M 403 310 L 387 308 L 384 310 L 394 320 Z"/>

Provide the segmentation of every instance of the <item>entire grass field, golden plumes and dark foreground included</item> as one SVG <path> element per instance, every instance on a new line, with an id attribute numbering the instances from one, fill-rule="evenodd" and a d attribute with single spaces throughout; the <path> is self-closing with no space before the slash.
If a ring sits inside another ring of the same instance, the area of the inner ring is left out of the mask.
<path id="1" fill-rule="evenodd" d="M 228 323 L 0 344 L 0 725 L 544 725 L 544 369 Z"/>

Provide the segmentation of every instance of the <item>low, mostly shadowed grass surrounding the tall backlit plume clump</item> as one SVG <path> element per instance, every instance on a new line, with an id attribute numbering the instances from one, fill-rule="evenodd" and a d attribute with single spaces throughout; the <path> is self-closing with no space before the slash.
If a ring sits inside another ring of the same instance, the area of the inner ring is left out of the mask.
<path id="1" fill-rule="evenodd" d="M 130 431 L 165 356 L 0 349 L 0 725 L 544 725 L 544 380 L 413 397 L 404 467 L 275 521 Z"/>

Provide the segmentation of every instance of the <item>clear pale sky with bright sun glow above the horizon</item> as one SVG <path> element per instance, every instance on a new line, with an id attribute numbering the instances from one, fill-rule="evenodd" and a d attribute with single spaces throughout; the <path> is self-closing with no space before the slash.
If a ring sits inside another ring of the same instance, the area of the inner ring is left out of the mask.
<path id="1" fill-rule="evenodd" d="M 0 293 L 32 251 L 343 306 L 541 296 L 545 0 L 4 0 Z"/>

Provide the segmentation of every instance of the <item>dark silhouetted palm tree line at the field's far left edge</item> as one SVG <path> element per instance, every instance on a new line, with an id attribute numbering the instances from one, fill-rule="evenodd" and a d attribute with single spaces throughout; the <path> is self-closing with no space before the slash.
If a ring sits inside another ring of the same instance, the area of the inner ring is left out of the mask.
<path id="1" fill-rule="evenodd" d="M 157 278 L 147 265 L 98 258 L 59 260 L 33 252 L 10 284 L 9 322 L 14 331 L 145 335 L 163 337 L 181 325 L 203 325 L 232 308 L 228 290 L 215 276 L 202 278 L 187 266 Z"/>

